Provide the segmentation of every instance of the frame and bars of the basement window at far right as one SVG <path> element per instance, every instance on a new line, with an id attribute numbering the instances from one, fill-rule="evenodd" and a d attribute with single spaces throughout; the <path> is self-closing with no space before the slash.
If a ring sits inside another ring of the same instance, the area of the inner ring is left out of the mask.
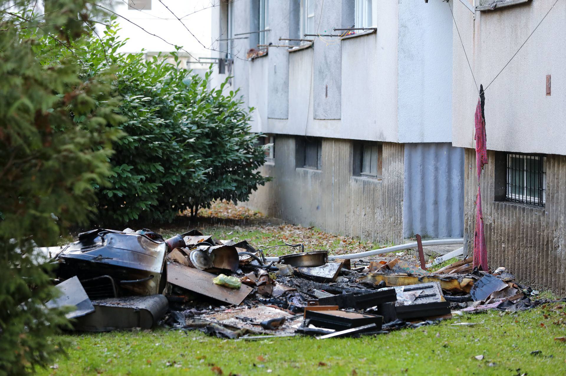
<path id="1" fill-rule="evenodd" d="M 512 159 L 520 159 L 523 166 L 513 166 Z M 505 153 L 505 201 L 544 207 L 546 205 L 546 160 L 546 155 L 543 154 Z M 535 175 L 538 180 L 538 188 L 529 186 L 530 183 L 534 183 L 534 180 L 529 181 L 528 176 L 534 171 L 529 171 L 528 161 L 538 161 L 539 170 Z M 514 174 L 518 173 L 514 171 L 521 171 L 522 184 L 513 183 L 516 178 Z M 522 193 L 514 193 L 517 188 L 522 188 Z M 538 197 L 529 195 L 529 190 L 533 192 L 535 189 L 538 191 Z"/>

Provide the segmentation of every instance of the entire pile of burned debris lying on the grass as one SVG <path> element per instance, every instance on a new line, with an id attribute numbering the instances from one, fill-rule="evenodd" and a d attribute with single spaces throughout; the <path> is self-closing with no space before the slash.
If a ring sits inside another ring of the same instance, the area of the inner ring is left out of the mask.
<path id="1" fill-rule="evenodd" d="M 149 230 L 92 230 L 64 247 L 40 248 L 57 263 L 61 291 L 48 307 L 71 306 L 76 330 L 201 330 L 221 338 L 378 334 L 486 309 L 535 305 L 505 268 L 466 259 L 431 273 L 414 262 L 329 261 L 300 251 L 267 262 L 264 249 L 197 230 L 164 239 Z M 421 263 L 422 265 L 422 263 Z"/>

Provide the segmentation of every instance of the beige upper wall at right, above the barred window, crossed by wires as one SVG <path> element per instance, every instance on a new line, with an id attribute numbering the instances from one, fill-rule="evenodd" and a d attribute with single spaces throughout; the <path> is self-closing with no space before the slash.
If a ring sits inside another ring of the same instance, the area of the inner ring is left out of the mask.
<path id="1" fill-rule="evenodd" d="M 473 14 L 451 2 L 475 80 L 484 87 L 511 59 L 555 0 Z M 454 28 L 453 145 L 471 148 L 478 91 Z M 487 148 L 525 153 L 566 154 L 566 2 L 559 1 L 486 90 Z M 546 75 L 551 96 L 546 96 Z M 475 196 L 474 196 L 475 197 Z"/>

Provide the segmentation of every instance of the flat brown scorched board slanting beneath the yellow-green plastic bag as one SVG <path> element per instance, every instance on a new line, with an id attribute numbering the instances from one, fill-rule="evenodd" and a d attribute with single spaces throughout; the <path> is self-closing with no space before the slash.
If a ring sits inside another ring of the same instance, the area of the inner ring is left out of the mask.
<path id="1" fill-rule="evenodd" d="M 252 288 L 245 284 L 239 289 L 215 284 L 212 282 L 215 276 L 180 263 L 171 262 L 167 265 L 167 282 L 226 303 L 238 305 L 252 291 Z"/>

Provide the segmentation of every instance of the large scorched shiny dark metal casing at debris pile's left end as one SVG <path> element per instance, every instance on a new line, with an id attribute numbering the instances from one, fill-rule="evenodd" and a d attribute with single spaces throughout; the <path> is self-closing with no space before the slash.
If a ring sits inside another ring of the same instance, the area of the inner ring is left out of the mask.
<path id="1" fill-rule="evenodd" d="M 120 295 L 154 295 L 165 288 L 166 253 L 164 242 L 146 235 L 92 230 L 79 234 L 79 241 L 59 253 L 59 275 L 80 279 L 109 275 L 119 284 Z"/>

